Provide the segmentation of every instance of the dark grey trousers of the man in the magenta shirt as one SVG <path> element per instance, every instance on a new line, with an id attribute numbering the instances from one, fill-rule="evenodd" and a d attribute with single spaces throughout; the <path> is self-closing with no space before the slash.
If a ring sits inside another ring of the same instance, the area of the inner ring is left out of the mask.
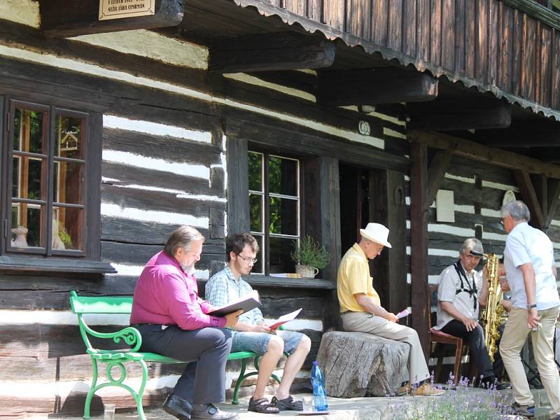
<path id="1" fill-rule="evenodd" d="M 225 328 L 181 330 L 170 325 L 134 325 L 142 336 L 140 351 L 185 360 L 174 395 L 193 404 L 225 401 L 225 363 L 232 348 L 232 335 Z"/>

